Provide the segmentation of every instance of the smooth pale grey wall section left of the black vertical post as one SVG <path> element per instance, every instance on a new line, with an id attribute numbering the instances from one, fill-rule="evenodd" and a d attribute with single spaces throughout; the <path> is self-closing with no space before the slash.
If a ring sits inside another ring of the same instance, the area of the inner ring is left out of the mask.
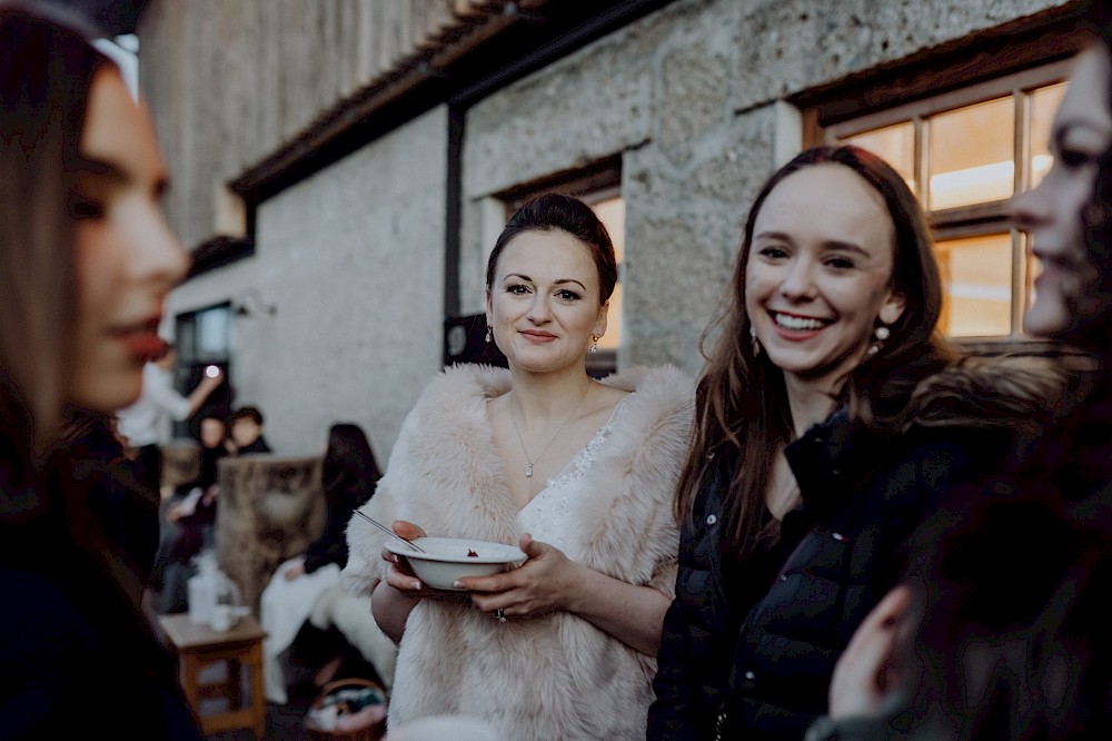
<path id="1" fill-rule="evenodd" d="M 355 422 L 385 465 L 439 369 L 446 137 L 441 107 L 266 201 L 254 257 L 173 293 L 175 315 L 248 288 L 277 307 L 236 319 L 230 379 L 276 451 L 317 452 Z"/>

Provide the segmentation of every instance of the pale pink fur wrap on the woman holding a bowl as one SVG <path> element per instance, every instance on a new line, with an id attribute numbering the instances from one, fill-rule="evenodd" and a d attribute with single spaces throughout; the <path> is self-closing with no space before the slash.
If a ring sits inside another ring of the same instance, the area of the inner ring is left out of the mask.
<path id="1" fill-rule="evenodd" d="M 631 368 L 604 383 L 634 392 L 620 405 L 584 484 L 590 506 L 573 512 L 580 552 L 596 571 L 674 594 L 679 535 L 674 490 L 694 414 L 694 382 L 674 367 Z M 406 418 L 378 492 L 363 511 L 409 520 L 430 535 L 516 544 L 518 508 L 494 452 L 487 399 L 509 373 L 461 365 L 443 372 Z M 385 535 L 348 525 L 348 589 L 385 577 Z M 499 623 L 469 603 L 425 600 L 406 623 L 389 723 L 464 714 L 503 739 L 643 739 L 653 656 L 587 621 L 553 613 Z"/>

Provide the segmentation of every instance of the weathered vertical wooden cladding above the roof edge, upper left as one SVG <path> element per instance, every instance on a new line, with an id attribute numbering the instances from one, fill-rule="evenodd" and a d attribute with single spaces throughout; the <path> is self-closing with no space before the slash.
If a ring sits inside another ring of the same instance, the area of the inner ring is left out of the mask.
<path id="1" fill-rule="evenodd" d="M 167 210 L 195 247 L 240 236 L 224 185 L 297 146 L 321 117 L 489 13 L 444 0 L 150 0 L 140 17 L 140 86 L 175 187 Z M 536 4 L 533 2 L 530 4 Z M 241 219 L 240 219 L 241 220 Z M 241 228 L 241 227 L 240 227 Z"/>

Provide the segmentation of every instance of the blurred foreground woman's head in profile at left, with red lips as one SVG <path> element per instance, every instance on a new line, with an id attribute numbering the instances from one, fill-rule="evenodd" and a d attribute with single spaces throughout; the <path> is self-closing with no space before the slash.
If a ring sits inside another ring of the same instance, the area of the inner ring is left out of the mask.
<path id="1" fill-rule="evenodd" d="M 6 432 L 139 394 L 186 254 L 163 220 L 146 109 L 81 32 L 0 8 L 0 395 Z"/>

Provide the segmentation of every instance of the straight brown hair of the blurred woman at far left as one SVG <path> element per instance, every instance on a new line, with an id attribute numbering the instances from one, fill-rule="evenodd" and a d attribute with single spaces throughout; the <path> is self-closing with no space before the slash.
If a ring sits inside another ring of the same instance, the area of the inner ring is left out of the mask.
<path id="1" fill-rule="evenodd" d="M 111 63 L 81 30 L 0 7 L 0 435 L 26 461 L 41 462 L 61 421 L 77 293 L 72 174 L 92 78 Z"/>

